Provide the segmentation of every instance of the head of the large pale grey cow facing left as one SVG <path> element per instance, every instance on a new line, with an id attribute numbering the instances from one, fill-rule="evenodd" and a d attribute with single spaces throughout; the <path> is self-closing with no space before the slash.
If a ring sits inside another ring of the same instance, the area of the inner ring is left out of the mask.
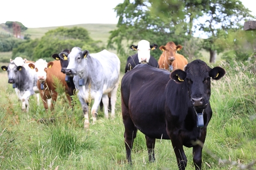
<path id="1" fill-rule="evenodd" d="M 82 51 L 79 47 L 73 47 L 68 55 L 69 64 L 66 67 L 66 75 L 77 75 L 84 72 L 88 55 L 88 50 Z"/>

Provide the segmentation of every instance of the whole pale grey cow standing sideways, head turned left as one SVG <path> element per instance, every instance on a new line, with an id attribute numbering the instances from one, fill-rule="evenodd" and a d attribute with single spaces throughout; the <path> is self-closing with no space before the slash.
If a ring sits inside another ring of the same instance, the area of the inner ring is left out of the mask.
<path id="1" fill-rule="evenodd" d="M 101 98 L 105 118 L 108 118 L 109 92 L 111 92 L 111 117 L 115 117 L 116 93 L 120 75 L 120 59 L 117 55 L 107 50 L 89 54 L 88 50 L 82 51 L 79 47 L 73 47 L 70 54 L 61 52 L 59 55 L 64 54 L 69 60 L 66 75 L 74 75 L 74 85 L 84 112 L 84 128 L 89 127 L 87 103 L 91 99 L 94 100 L 91 110 L 93 123 L 96 122 Z"/>

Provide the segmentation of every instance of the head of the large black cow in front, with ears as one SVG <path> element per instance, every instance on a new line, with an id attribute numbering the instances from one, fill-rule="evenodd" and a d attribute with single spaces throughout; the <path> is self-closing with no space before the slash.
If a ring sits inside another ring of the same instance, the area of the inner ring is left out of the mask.
<path id="1" fill-rule="evenodd" d="M 170 78 L 176 83 L 186 83 L 192 107 L 203 110 L 209 104 L 211 95 L 211 78 L 219 80 L 225 75 L 221 67 L 210 68 L 202 60 L 194 60 L 184 67 L 184 71 L 175 70 Z"/>

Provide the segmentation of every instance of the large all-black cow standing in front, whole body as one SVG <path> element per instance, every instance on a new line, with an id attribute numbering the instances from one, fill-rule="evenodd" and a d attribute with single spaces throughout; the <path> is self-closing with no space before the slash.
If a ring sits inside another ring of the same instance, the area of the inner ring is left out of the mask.
<path id="1" fill-rule="evenodd" d="M 183 145 L 193 147 L 195 169 L 201 169 L 202 147 L 212 116 L 211 78 L 225 75 L 221 67 L 210 68 L 202 60 L 188 63 L 182 70 L 170 72 L 139 64 L 121 81 L 121 107 L 128 162 L 137 129 L 145 134 L 149 161 L 155 160 L 155 139 L 171 139 L 179 169 L 185 169 L 187 157 Z"/>

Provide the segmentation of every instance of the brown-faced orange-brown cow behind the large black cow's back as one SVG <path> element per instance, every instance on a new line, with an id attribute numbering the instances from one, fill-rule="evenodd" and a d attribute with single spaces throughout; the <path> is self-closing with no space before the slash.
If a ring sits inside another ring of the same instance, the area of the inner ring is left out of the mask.
<path id="1" fill-rule="evenodd" d="M 176 69 L 183 70 L 184 66 L 187 65 L 187 59 L 177 53 L 182 49 L 181 45 L 176 46 L 174 42 L 168 42 L 166 46 L 160 46 L 159 49 L 163 51 L 158 60 L 159 68 L 174 71 Z"/>

